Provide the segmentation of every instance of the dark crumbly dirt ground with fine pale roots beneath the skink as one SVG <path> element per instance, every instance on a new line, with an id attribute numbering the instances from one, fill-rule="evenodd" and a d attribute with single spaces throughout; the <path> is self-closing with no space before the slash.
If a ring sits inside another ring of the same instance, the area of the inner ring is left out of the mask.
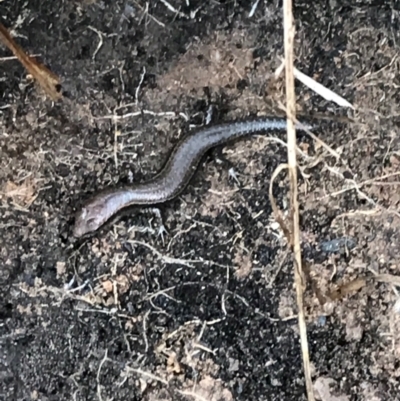
<path id="1" fill-rule="evenodd" d="M 0 48 L 0 399 L 306 400 L 293 265 L 268 188 L 286 147 L 224 147 L 152 213 L 72 237 L 99 189 L 152 177 L 194 125 L 282 115 L 281 4 L 0 1 L 62 79 L 51 102 Z M 295 2 L 313 383 L 323 401 L 400 400 L 400 8 Z M 276 136 L 285 141 L 284 133 Z M 274 184 L 280 208 L 288 182 Z M 396 281 L 397 280 L 397 281 Z"/>

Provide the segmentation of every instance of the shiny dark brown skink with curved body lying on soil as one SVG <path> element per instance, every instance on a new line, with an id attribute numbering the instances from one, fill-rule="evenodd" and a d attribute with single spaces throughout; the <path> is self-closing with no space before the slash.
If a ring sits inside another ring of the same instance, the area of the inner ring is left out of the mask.
<path id="1" fill-rule="evenodd" d="M 311 128 L 307 124 L 303 127 Z M 82 237 L 96 231 L 127 206 L 159 204 L 175 198 L 188 185 L 200 159 L 209 149 L 246 135 L 284 129 L 286 119 L 264 117 L 194 131 L 181 139 L 164 168 L 151 180 L 120 189 L 108 189 L 89 199 L 76 215 L 74 236 Z"/>

